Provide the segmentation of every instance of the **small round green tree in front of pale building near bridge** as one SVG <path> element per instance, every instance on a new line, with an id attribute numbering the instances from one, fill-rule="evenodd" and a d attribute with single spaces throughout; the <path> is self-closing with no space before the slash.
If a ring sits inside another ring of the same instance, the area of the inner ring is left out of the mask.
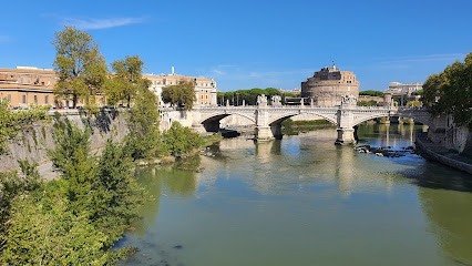
<path id="1" fill-rule="evenodd" d="M 191 110 L 196 100 L 195 85 L 192 82 L 181 81 L 176 85 L 164 86 L 161 95 L 165 103 Z"/>

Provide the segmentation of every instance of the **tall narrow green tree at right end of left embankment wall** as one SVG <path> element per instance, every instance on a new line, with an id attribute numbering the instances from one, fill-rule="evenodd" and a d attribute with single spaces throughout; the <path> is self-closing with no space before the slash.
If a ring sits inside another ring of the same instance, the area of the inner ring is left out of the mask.
<path id="1" fill-rule="evenodd" d="M 125 142 L 134 160 L 157 155 L 160 131 L 156 95 L 150 90 L 136 94 L 135 104 L 126 116 L 130 133 Z"/>

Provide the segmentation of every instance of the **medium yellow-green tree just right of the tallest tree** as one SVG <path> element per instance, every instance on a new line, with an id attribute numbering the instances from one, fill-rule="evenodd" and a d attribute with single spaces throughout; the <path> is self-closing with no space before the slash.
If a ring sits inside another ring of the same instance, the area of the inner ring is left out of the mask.
<path id="1" fill-rule="evenodd" d="M 109 103 L 126 101 L 127 106 L 140 90 L 147 90 L 151 81 L 143 78 L 144 62 L 140 55 L 126 57 L 112 63 L 113 76 L 106 83 Z"/>

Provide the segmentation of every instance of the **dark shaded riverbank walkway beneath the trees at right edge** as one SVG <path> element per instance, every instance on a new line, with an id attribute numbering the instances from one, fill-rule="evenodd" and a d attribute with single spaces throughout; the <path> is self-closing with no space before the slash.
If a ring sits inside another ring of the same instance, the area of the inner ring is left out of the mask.
<path id="1" fill-rule="evenodd" d="M 455 151 L 451 151 L 428 140 L 428 134 L 417 134 L 417 150 L 429 160 L 434 160 L 444 165 L 472 174 L 472 160 L 461 156 Z"/>

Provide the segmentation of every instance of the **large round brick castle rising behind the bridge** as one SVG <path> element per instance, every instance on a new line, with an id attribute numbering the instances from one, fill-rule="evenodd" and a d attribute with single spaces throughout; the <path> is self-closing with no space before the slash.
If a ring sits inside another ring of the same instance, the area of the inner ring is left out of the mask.
<path id="1" fill-rule="evenodd" d="M 346 94 L 359 96 L 359 81 L 351 71 L 341 71 L 336 68 L 322 68 L 314 76 L 301 82 L 301 98 L 311 100 L 317 106 L 336 106 L 341 104 Z"/>

